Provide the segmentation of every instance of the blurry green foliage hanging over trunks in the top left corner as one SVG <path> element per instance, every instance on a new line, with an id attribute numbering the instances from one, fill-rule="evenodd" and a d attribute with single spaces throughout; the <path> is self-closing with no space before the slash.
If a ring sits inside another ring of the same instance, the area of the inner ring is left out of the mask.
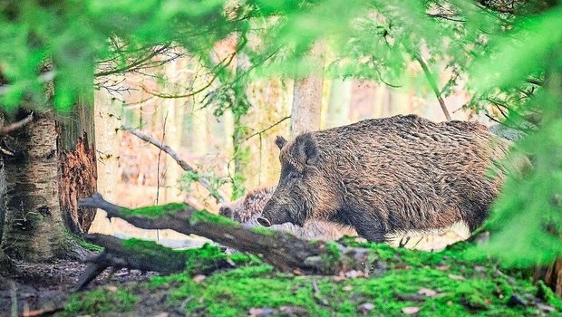
<path id="1" fill-rule="evenodd" d="M 244 24 L 244 19 L 228 18 L 220 0 L 5 2 L 0 72 L 10 85 L 0 103 L 14 109 L 25 97 L 34 101 L 28 106 L 44 109 L 43 83 L 50 75 L 41 73 L 51 63 L 54 106 L 68 110 L 80 91 L 92 90 L 95 62 L 127 69 L 143 48 L 172 42 L 208 60 L 214 43 Z"/>

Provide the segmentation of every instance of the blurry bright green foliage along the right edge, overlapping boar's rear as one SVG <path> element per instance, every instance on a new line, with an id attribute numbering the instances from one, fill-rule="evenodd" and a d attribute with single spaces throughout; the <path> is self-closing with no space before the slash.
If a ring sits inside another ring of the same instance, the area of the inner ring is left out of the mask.
<path id="1" fill-rule="evenodd" d="M 487 224 L 492 235 L 482 249 L 501 258 L 503 264 L 547 264 L 562 255 L 561 14 L 562 6 L 558 6 L 518 19 L 512 32 L 492 39 L 492 53 L 480 59 L 473 71 L 483 93 L 490 87 L 518 89 L 537 74 L 545 78 L 521 107 L 540 118 L 538 130 L 531 131 L 516 149 L 533 158 L 533 168 L 523 178 L 507 180 Z M 509 118 L 518 120 L 518 115 L 510 113 Z"/>

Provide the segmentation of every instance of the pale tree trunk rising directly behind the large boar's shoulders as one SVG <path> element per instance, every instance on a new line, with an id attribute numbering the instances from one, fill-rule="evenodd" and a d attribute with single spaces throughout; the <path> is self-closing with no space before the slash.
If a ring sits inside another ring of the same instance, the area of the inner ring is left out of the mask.
<path id="1" fill-rule="evenodd" d="M 305 131 L 320 130 L 322 83 L 324 81 L 325 42 L 315 43 L 311 51 L 315 71 L 308 77 L 295 80 L 291 110 L 291 136 Z"/>

